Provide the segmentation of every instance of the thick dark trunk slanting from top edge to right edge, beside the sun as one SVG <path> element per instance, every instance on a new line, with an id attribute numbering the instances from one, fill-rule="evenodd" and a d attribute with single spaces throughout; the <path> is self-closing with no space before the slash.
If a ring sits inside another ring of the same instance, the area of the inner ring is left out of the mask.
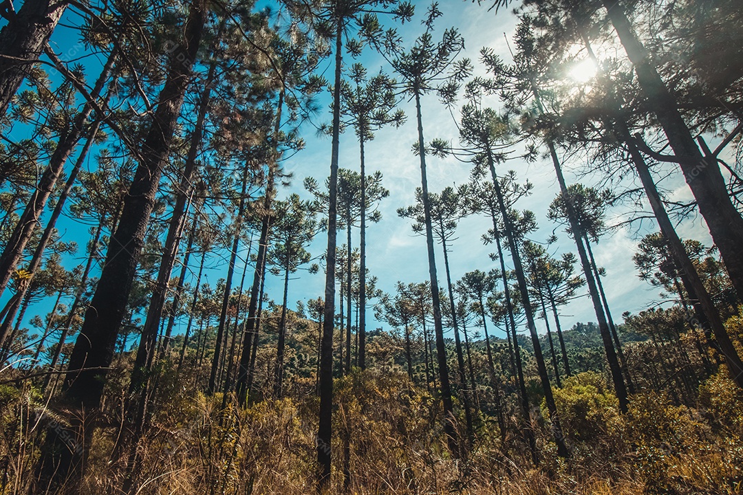
<path id="1" fill-rule="evenodd" d="M 678 111 L 674 97 L 658 74 L 645 47 L 632 31 L 623 4 L 614 0 L 603 0 L 603 4 L 627 57 L 635 67 L 637 83 L 646 105 L 658 117 L 658 123 L 663 128 L 694 194 L 699 212 L 707 222 L 710 235 L 720 251 L 730 281 L 739 298 L 743 298 L 743 217 L 730 201 L 716 157 L 710 156 L 706 151 L 705 154 L 699 151 L 689 127 Z M 741 371 L 734 372 L 731 367 L 731 373 L 736 373 L 739 377 Z"/>

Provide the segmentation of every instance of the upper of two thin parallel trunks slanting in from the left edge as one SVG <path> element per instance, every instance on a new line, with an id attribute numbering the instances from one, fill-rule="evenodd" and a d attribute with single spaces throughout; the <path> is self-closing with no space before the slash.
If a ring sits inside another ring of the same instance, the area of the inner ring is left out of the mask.
<path id="1" fill-rule="evenodd" d="M 0 44 L 0 46 L 4 45 Z M 100 96 L 100 92 L 103 90 L 103 86 L 106 85 L 108 76 L 111 75 L 116 59 L 117 52 L 114 50 L 108 56 L 106 64 L 103 66 L 103 71 L 101 71 L 100 76 L 98 76 L 93 91 L 91 92 L 92 97 L 97 98 Z M 0 84 L 2 78 L 2 62 L 3 59 L 0 56 Z M 0 94 L 0 105 L 2 105 L 1 97 Z M 56 180 L 59 178 L 60 174 L 62 174 L 65 163 L 67 163 L 72 151 L 74 151 L 77 141 L 80 140 L 80 135 L 85 128 L 85 123 L 88 122 L 88 117 L 92 110 L 92 105 L 86 102 L 85 105 L 83 105 L 80 114 L 77 114 L 74 122 L 72 122 L 71 128 L 60 137 L 59 142 L 49 159 L 49 164 L 39 179 L 36 190 L 31 194 L 15 229 L 13 229 L 13 233 L 10 235 L 7 243 L 5 243 L 3 252 L 0 255 L 0 295 L 4 292 L 7 283 L 10 281 L 10 277 L 13 275 L 16 266 L 22 258 L 28 241 L 33 236 L 34 230 L 36 230 L 36 225 L 39 223 L 39 218 L 41 218 L 42 213 L 44 212 L 47 200 L 54 191 Z"/>

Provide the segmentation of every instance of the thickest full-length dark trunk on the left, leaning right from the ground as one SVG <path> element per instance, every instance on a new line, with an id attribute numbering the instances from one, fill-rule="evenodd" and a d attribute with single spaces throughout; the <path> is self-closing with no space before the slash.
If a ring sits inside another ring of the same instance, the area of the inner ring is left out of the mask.
<path id="1" fill-rule="evenodd" d="M 82 418 L 74 424 L 73 437 L 89 439 L 93 430 L 92 414 L 100 404 L 114 347 L 132 289 L 137 258 L 142 251 L 149 217 L 155 204 L 160 175 L 168 160 L 170 145 L 181 105 L 191 75 L 201 34 L 206 22 L 204 4 L 196 2 L 189 9 L 180 49 L 173 53 L 168 77 L 160 92 L 158 107 L 152 116 L 152 125 L 143 142 L 143 161 L 137 167 L 129 194 L 124 201 L 120 223 L 108 247 L 106 264 L 100 275 L 96 292 L 85 313 L 80 335 L 75 343 L 65 381 L 63 400 L 71 410 L 79 411 L 73 418 Z M 176 58 L 180 56 L 181 61 Z M 65 436 L 62 436 L 62 433 Z M 65 476 L 80 479 L 89 442 L 77 442 L 77 448 L 68 448 L 65 441 L 68 430 L 49 428 L 42 457 L 39 460 L 36 486 L 55 488 Z"/>

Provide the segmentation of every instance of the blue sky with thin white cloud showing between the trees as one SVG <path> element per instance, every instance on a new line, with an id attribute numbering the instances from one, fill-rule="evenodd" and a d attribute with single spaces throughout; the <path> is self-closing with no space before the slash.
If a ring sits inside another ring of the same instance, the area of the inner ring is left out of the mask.
<path id="1" fill-rule="evenodd" d="M 421 33 L 420 19 L 428 6 L 425 2 L 415 2 L 415 4 L 417 16 L 409 24 L 399 27 L 406 42 L 412 42 L 415 36 Z M 441 36 L 446 27 L 458 27 L 464 36 L 466 46 L 462 56 L 467 56 L 473 60 L 476 73 L 482 73 L 483 71 L 478 63 L 478 51 L 481 47 L 492 47 L 504 60 L 510 60 L 504 38 L 504 33 L 509 38 L 511 37 L 516 25 L 516 17 L 510 11 L 500 10 L 496 14 L 494 10 L 487 11 L 487 5 L 485 4 L 480 6 L 473 2 L 455 0 L 441 1 L 439 7 L 444 16 L 437 21 L 434 39 Z M 389 19 L 381 20 L 383 22 L 389 21 Z M 74 50 L 77 44 L 69 33 L 65 34 L 65 27 L 62 26 L 58 29 L 52 41 L 58 53 L 69 55 L 66 57 L 63 55 L 62 59 L 74 58 L 71 50 Z M 360 61 L 366 65 L 370 74 L 376 73 L 380 68 L 383 68 L 387 73 L 390 71 L 389 68 L 385 67 L 383 59 L 374 53 L 366 53 Z M 348 65 L 352 62 L 355 61 L 348 60 Z M 331 79 L 333 70 L 331 59 L 328 59 L 322 65 L 322 68 L 325 71 L 325 77 Z M 91 70 L 91 73 L 94 73 L 94 70 Z M 313 117 L 313 121 L 317 124 L 329 122 L 331 119 L 327 105 L 329 96 L 322 96 L 319 102 L 323 105 L 322 110 Z M 414 202 L 415 188 L 421 185 L 420 163 L 411 149 L 412 144 L 417 140 L 415 107 L 412 102 L 403 102 L 401 108 L 406 112 L 407 122 L 400 128 L 384 128 L 377 131 L 375 139 L 366 145 L 366 168 L 368 173 L 381 171 L 383 186 L 390 191 L 389 197 L 379 204 L 382 220 L 380 223 L 369 223 L 366 235 L 367 266 L 371 275 L 378 279 L 377 287 L 387 293 L 394 293 L 395 284 L 398 281 L 405 283 L 422 282 L 428 280 L 429 277 L 425 237 L 415 235 L 410 228 L 409 220 L 398 217 L 396 212 L 398 208 L 409 206 Z M 424 134 L 427 141 L 432 138 L 443 138 L 457 142 L 458 131 L 452 115 L 447 108 L 438 102 L 435 95 L 424 96 L 422 114 Z M 455 116 L 457 116 L 456 112 Z M 307 142 L 307 147 L 284 163 L 285 171 L 291 171 L 293 180 L 290 187 L 279 191 L 279 197 L 281 198 L 296 192 L 309 199 L 310 194 L 302 189 L 302 181 L 305 177 L 315 177 L 318 182 L 324 183 L 325 177 L 329 174 L 330 140 L 317 137 L 315 129 L 311 125 L 305 125 L 302 134 Z M 575 160 L 565 163 L 568 183 L 580 181 L 592 186 L 600 180 L 600 177 L 590 174 L 587 177 L 580 176 L 579 172 L 585 171 L 588 164 L 585 163 L 585 158 L 579 157 Z M 581 162 L 580 160 L 584 161 Z M 88 166 L 91 166 L 94 160 L 89 159 L 88 162 L 90 164 Z M 358 170 L 359 167 L 358 143 L 350 130 L 341 136 L 340 166 L 353 170 Z M 503 174 L 510 169 L 517 172 L 519 181 L 523 182 L 528 179 L 534 186 L 533 194 L 523 198 L 516 205 L 519 209 L 530 209 L 536 214 L 539 230 L 530 236 L 531 240 L 544 243 L 554 232 L 557 234 L 559 241 L 551 246 L 551 252 L 554 255 L 568 251 L 574 252 L 573 240 L 565 234 L 562 226 L 551 223 L 546 217 L 548 206 L 559 191 L 551 162 L 537 160 L 536 163 L 524 163 L 521 160 L 512 160 L 502 165 L 499 173 Z M 429 191 L 432 192 L 441 191 L 447 186 L 464 183 L 470 174 L 470 168 L 467 164 L 454 159 L 445 160 L 437 157 L 428 157 L 427 171 Z M 637 187 L 638 184 L 633 184 L 632 178 L 629 178 L 623 186 Z M 664 186 L 672 190 L 671 197 L 674 200 L 689 200 L 691 198 L 690 191 L 679 177 L 671 177 L 667 183 L 664 183 Z M 646 209 L 648 208 L 646 207 Z M 612 209 L 609 211 L 609 225 L 625 220 L 626 214 L 627 207 L 620 206 L 617 209 Z M 465 272 L 474 269 L 487 272 L 496 268 L 498 262 L 494 262 L 488 256 L 490 252 L 493 252 L 494 246 L 485 246 L 481 242 L 481 235 L 487 232 L 490 226 L 492 226 L 492 223 L 486 217 L 467 217 L 461 220 L 456 238 L 450 246 L 452 281 L 458 280 Z M 59 222 L 59 229 L 62 232 L 63 240 L 76 240 L 80 244 L 77 256 L 68 258 L 68 265 L 71 267 L 80 264 L 80 260 L 85 256 L 84 246 L 88 237 L 88 226 L 76 224 L 68 217 L 63 217 Z M 620 315 L 625 311 L 638 312 L 649 305 L 661 302 L 658 297 L 658 290 L 637 278 L 637 271 L 632 262 L 632 254 L 635 252 L 637 240 L 647 232 L 654 230 L 655 224 L 646 220 L 641 226 L 633 225 L 613 229 L 594 246 L 597 264 L 606 268 L 606 277 L 603 278 L 603 283 L 615 321 L 621 321 Z M 694 237 L 710 245 L 707 229 L 701 217 L 682 223 L 679 226 L 679 233 L 682 237 Z M 358 230 L 356 229 L 352 241 L 354 247 L 358 246 L 358 239 Z M 339 246 L 344 242 L 345 234 L 339 236 Z M 327 237 L 325 233 L 321 233 L 309 246 L 308 251 L 315 256 L 321 255 L 325 251 L 326 243 Z M 244 259 L 246 249 L 245 247 L 241 249 L 239 258 Z M 443 253 L 440 246 L 437 245 L 436 249 L 438 278 L 441 283 L 445 282 Z M 218 278 L 224 277 L 228 255 L 227 248 L 219 249 L 210 255 L 212 269 L 207 273 L 206 280 L 212 287 L 215 286 Z M 507 256 L 506 258 L 507 267 L 510 268 L 510 257 Z M 576 272 L 580 271 L 580 265 L 577 264 L 575 268 Z M 239 263 L 236 269 L 236 281 L 239 281 L 241 271 L 242 265 Z M 174 273 L 173 276 L 175 275 L 177 274 Z M 97 272 L 94 273 L 94 276 L 97 276 Z M 248 269 L 246 281 L 249 283 L 251 280 L 252 269 Z M 302 271 L 297 272 L 291 279 L 289 286 L 288 306 L 294 307 L 296 301 L 308 301 L 308 299 L 322 296 L 324 283 L 325 275 L 322 272 L 317 275 Z M 268 274 L 266 290 L 269 297 L 280 304 L 282 277 Z M 579 321 L 595 320 L 594 310 L 587 294 L 585 294 L 585 288 L 581 291 L 583 297 L 571 301 L 570 304 L 560 309 L 564 329 L 572 327 Z M 7 295 L 5 298 L 7 298 Z M 69 303 L 71 301 L 65 302 Z M 371 304 L 374 302 L 376 301 L 370 301 L 367 311 L 367 330 L 373 330 L 376 327 L 389 330 L 386 324 L 375 321 L 374 311 L 371 308 Z M 4 304 L 4 301 L 0 301 L 0 303 Z M 46 304 L 48 304 L 48 308 L 45 307 Z M 39 304 L 39 306 L 31 308 L 29 314 L 43 314 L 44 309 L 46 311 L 51 309 L 51 304 L 48 301 Z M 537 325 L 539 332 L 543 332 L 544 323 L 539 320 Z M 178 324 L 175 332 L 183 332 L 184 330 L 185 320 Z M 524 330 L 521 329 L 521 331 Z M 498 331 L 495 334 L 496 336 L 504 335 Z M 448 332 L 447 335 L 451 336 L 451 333 Z"/>

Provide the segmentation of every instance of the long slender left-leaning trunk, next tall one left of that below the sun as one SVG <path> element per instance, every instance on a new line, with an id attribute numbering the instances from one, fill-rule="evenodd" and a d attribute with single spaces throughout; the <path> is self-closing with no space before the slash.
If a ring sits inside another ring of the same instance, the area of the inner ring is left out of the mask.
<path id="1" fill-rule="evenodd" d="M 493 177 L 493 186 L 496 191 L 496 196 L 498 197 L 501 216 L 503 217 L 505 234 L 508 238 L 511 258 L 513 259 L 513 269 L 516 272 L 516 280 L 519 282 L 522 305 L 524 306 L 527 325 L 529 332 L 531 333 L 531 342 L 534 347 L 534 358 L 536 360 L 536 368 L 539 372 L 539 379 L 542 381 L 542 391 L 545 393 L 545 403 L 547 404 L 547 410 L 550 413 L 552 433 L 555 445 L 557 445 L 557 453 L 559 456 L 566 457 L 569 455 L 568 446 L 565 445 L 565 436 L 562 434 L 562 427 L 560 427 L 559 424 L 557 406 L 555 405 L 554 396 L 552 395 L 552 386 L 547 374 L 547 367 L 545 367 L 545 358 L 542 355 L 542 346 L 539 344 L 539 335 L 536 333 L 536 325 L 534 324 L 533 311 L 531 308 L 531 302 L 529 301 L 529 291 L 526 286 L 526 278 L 524 276 L 524 269 L 522 268 L 521 256 L 519 255 L 519 249 L 516 246 L 516 240 L 513 236 L 513 226 L 511 225 L 510 217 L 508 216 L 508 211 L 503 200 L 503 193 L 501 191 L 500 183 L 498 182 L 498 176 L 496 175 L 496 168 L 493 162 L 493 156 L 490 153 L 490 148 L 487 150 L 487 163 L 490 166 L 490 175 Z M 515 332 L 515 325 L 513 326 L 513 329 Z M 513 340 L 514 342 L 516 341 L 516 335 L 514 335 Z"/>

